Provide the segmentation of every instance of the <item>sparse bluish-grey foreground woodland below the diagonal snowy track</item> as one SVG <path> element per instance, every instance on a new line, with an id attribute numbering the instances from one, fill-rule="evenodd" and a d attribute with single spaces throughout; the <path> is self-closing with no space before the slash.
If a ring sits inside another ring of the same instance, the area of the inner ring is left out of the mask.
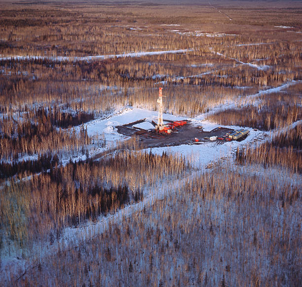
<path id="1" fill-rule="evenodd" d="M 296 185 L 219 167 L 47 256 L 16 284 L 298 287 L 300 207 Z"/>

